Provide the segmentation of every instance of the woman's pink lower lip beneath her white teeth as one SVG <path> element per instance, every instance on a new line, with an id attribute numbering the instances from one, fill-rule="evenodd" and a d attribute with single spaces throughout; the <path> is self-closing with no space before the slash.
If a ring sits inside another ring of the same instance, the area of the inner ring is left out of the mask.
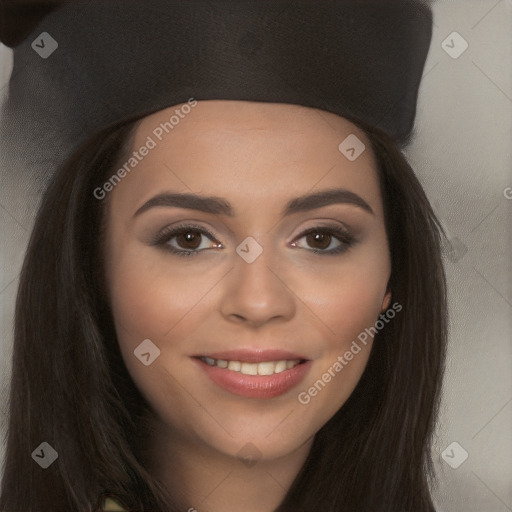
<path id="1" fill-rule="evenodd" d="M 246 398 L 274 398 L 295 387 L 311 367 L 311 361 L 274 375 L 244 375 L 240 372 L 210 366 L 201 359 L 195 359 L 200 368 L 217 386 Z"/>

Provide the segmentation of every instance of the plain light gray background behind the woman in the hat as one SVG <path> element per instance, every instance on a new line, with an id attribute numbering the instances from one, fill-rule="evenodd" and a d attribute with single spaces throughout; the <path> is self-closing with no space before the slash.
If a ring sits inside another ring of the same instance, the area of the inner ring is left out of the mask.
<path id="1" fill-rule="evenodd" d="M 416 138 L 406 154 L 450 235 L 450 345 L 434 495 L 438 512 L 506 512 L 512 511 L 512 199 L 506 197 L 512 197 L 512 0 L 445 0 L 433 9 Z M 463 48 L 453 32 L 468 44 L 457 58 L 447 53 Z M 11 51 L 0 44 L 0 99 L 11 67 Z M 37 200 L 28 182 L 0 191 L 3 421 L 14 299 Z"/>

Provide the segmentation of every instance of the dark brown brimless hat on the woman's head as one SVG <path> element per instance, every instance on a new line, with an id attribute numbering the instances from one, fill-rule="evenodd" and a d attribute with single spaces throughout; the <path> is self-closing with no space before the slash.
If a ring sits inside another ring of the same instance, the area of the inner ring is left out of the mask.
<path id="1" fill-rule="evenodd" d="M 99 130 L 191 98 L 323 109 L 403 146 L 431 36 L 420 0 L 73 1 L 14 48 L 0 150 L 43 173 Z"/>

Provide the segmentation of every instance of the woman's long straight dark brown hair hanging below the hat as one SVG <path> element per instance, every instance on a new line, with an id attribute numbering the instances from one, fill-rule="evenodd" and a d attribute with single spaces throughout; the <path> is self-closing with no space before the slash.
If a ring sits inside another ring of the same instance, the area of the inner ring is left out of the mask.
<path id="1" fill-rule="evenodd" d="M 432 512 L 430 443 L 444 368 L 442 228 L 393 140 L 353 120 L 375 154 L 403 310 L 375 336 L 349 400 L 316 434 L 278 512 Z M 16 302 L 0 510 L 91 512 L 103 492 L 130 510 L 177 512 L 145 466 L 149 406 L 122 361 L 102 288 L 103 202 L 93 196 L 136 123 L 97 134 L 52 178 Z M 42 442 L 57 461 L 42 469 Z"/>

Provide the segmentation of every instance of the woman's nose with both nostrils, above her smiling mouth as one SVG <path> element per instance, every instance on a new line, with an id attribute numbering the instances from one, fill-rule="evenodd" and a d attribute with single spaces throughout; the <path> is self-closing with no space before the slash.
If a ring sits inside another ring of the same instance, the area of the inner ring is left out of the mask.
<path id="1" fill-rule="evenodd" d="M 230 322 L 259 327 L 268 322 L 289 321 L 295 315 L 296 297 L 280 275 L 269 251 L 252 263 L 235 256 L 234 268 L 226 276 L 221 313 Z"/>

